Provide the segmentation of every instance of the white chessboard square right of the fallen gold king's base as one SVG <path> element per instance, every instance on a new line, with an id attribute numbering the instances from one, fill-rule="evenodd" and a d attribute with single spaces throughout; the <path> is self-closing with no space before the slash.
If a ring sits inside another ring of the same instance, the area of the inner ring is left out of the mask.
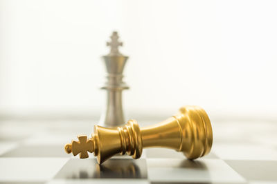
<path id="1" fill-rule="evenodd" d="M 277 161 L 277 150 L 274 147 L 249 144 L 215 144 L 213 152 L 226 160 L 275 160 Z"/>

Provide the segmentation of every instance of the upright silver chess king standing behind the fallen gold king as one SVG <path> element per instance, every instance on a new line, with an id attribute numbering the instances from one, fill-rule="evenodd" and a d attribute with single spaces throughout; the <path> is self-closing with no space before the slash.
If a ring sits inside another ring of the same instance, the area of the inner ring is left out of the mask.
<path id="1" fill-rule="evenodd" d="M 117 32 L 111 34 L 111 42 L 107 46 L 111 51 L 102 59 L 107 68 L 107 83 L 101 89 L 107 90 L 107 105 L 102 113 L 100 123 L 108 127 L 123 125 L 125 123 L 122 107 L 122 91 L 129 87 L 122 81 L 123 68 L 128 57 L 123 56 L 118 50 L 123 43 L 118 41 Z"/>

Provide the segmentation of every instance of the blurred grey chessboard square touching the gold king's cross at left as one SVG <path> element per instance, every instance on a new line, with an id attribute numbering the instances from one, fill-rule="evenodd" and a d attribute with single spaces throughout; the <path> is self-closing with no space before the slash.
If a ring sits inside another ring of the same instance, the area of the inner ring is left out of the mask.
<path id="1" fill-rule="evenodd" d="M 1 157 L 70 157 L 59 145 L 20 145 Z"/>

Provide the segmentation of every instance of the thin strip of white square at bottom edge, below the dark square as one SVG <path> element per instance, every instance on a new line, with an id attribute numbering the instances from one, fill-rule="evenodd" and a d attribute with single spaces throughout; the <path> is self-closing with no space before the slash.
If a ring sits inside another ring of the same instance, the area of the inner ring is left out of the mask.
<path id="1" fill-rule="evenodd" d="M 55 179 L 52 181 L 49 181 L 46 184 L 91 184 L 91 183 L 98 183 L 98 184 L 124 184 L 124 183 L 132 183 L 132 184 L 150 184 L 150 182 L 146 179 L 120 179 L 120 178 L 112 178 L 112 179 Z"/>

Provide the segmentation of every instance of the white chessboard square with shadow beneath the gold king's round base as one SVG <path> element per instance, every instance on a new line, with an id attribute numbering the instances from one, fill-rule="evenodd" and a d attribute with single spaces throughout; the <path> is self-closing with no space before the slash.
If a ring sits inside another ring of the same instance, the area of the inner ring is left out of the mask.
<path id="1" fill-rule="evenodd" d="M 220 159 L 147 159 L 147 163 L 148 177 L 154 182 L 245 182 L 242 176 Z"/>

